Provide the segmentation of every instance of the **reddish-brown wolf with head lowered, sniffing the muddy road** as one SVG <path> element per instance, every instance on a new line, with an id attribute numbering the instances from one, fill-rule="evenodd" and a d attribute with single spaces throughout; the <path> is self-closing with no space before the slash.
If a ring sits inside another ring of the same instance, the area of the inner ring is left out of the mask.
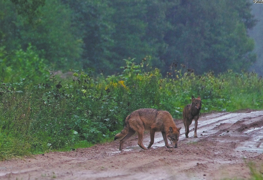
<path id="1" fill-rule="evenodd" d="M 164 138 L 165 146 L 171 148 L 167 138 L 171 141 L 174 148 L 177 148 L 177 142 L 180 136 L 180 128 L 177 128 L 173 117 L 167 111 L 157 109 L 138 109 L 132 112 L 125 119 L 123 130 L 115 135 L 114 140 L 120 140 L 120 151 L 123 149 L 123 143 L 135 132 L 138 133 L 138 145 L 146 150 L 143 145 L 143 134 L 145 130 L 150 130 L 151 141 L 148 149 L 151 148 L 154 142 L 155 132 L 161 132 Z"/>

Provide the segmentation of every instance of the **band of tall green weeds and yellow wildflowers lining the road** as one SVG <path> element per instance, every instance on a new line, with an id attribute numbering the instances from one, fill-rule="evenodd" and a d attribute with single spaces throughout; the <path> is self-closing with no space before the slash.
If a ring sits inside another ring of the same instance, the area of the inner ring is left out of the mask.
<path id="1" fill-rule="evenodd" d="M 27 55 L 30 52 L 29 48 L 14 55 L 39 60 Z M 162 78 L 160 70 L 147 66 L 147 61 L 136 65 L 133 59 L 125 60 L 123 72 L 108 77 L 72 70 L 68 79 L 51 72 L 48 78 L 49 74 L 42 79 L 36 75 L 26 81 L 25 76 L 21 83 L 2 83 L 0 159 L 112 140 L 125 117 L 139 108 L 167 110 L 181 118 L 192 95 L 201 96 L 201 112 L 263 108 L 263 80 L 257 74 L 229 70 L 217 76 L 212 72 L 195 75 L 174 64 Z M 34 63 L 26 66 L 30 65 Z M 36 81 L 41 83 L 35 85 Z"/>

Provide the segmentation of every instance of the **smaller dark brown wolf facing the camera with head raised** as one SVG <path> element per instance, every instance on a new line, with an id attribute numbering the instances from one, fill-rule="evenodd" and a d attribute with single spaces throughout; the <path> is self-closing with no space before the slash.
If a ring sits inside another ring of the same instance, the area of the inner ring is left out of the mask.
<path id="1" fill-rule="evenodd" d="M 195 131 L 194 137 L 197 137 L 197 120 L 199 119 L 199 112 L 202 106 L 201 98 L 195 98 L 192 96 L 192 104 L 188 104 L 184 107 L 183 118 L 184 118 L 184 127 L 185 127 L 185 137 L 188 137 L 189 125 L 192 124 L 193 119 L 195 119 Z"/>

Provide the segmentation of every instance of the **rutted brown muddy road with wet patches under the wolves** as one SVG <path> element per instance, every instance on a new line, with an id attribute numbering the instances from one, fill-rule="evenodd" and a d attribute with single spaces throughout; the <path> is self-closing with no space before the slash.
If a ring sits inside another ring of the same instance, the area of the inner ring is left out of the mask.
<path id="1" fill-rule="evenodd" d="M 137 135 L 118 151 L 119 141 L 71 152 L 50 152 L 23 160 L 0 162 L 0 179 L 249 179 L 247 162 L 263 164 L 263 111 L 201 114 L 198 138 L 194 122 L 189 138 L 182 127 L 178 148 L 164 146 L 155 133 L 150 150 L 141 150 Z M 144 135 L 144 145 L 150 141 Z"/>

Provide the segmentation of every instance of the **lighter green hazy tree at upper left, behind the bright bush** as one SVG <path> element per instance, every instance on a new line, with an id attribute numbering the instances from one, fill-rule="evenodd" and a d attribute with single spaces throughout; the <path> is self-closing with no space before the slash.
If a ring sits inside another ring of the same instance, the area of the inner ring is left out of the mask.
<path id="1" fill-rule="evenodd" d="M 21 44 L 44 50 L 45 59 L 56 69 L 81 68 L 82 38 L 72 26 L 72 11 L 59 0 L 46 0 L 36 26 L 19 23 Z"/>

